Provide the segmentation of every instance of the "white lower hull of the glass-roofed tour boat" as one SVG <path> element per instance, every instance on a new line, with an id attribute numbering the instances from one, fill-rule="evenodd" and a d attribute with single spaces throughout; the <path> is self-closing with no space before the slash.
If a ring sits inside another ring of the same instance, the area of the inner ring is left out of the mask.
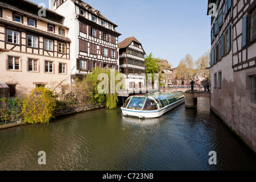
<path id="1" fill-rule="evenodd" d="M 160 110 L 155 111 L 142 111 L 142 110 L 132 110 L 132 109 L 122 109 L 123 115 L 133 116 L 133 117 L 139 117 L 139 118 L 158 118 L 162 116 L 164 113 L 167 113 L 168 111 L 174 109 L 175 107 L 183 104 L 185 102 L 185 99 L 175 102 L 174 104 L 171 104 L 169 106 L 164 107 Z"/>

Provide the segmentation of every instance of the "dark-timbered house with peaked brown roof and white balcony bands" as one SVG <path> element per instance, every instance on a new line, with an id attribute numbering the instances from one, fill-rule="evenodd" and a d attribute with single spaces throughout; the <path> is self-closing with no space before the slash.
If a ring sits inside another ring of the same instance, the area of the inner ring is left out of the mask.
<path id="1" fill-rule="evenodd" d="M 118 44 L 120 72 L 126 75 L 126 89 L 140 89 L 145 85 L 145 55 L 142 44 L 134 38 L 126 38 Z"/>

